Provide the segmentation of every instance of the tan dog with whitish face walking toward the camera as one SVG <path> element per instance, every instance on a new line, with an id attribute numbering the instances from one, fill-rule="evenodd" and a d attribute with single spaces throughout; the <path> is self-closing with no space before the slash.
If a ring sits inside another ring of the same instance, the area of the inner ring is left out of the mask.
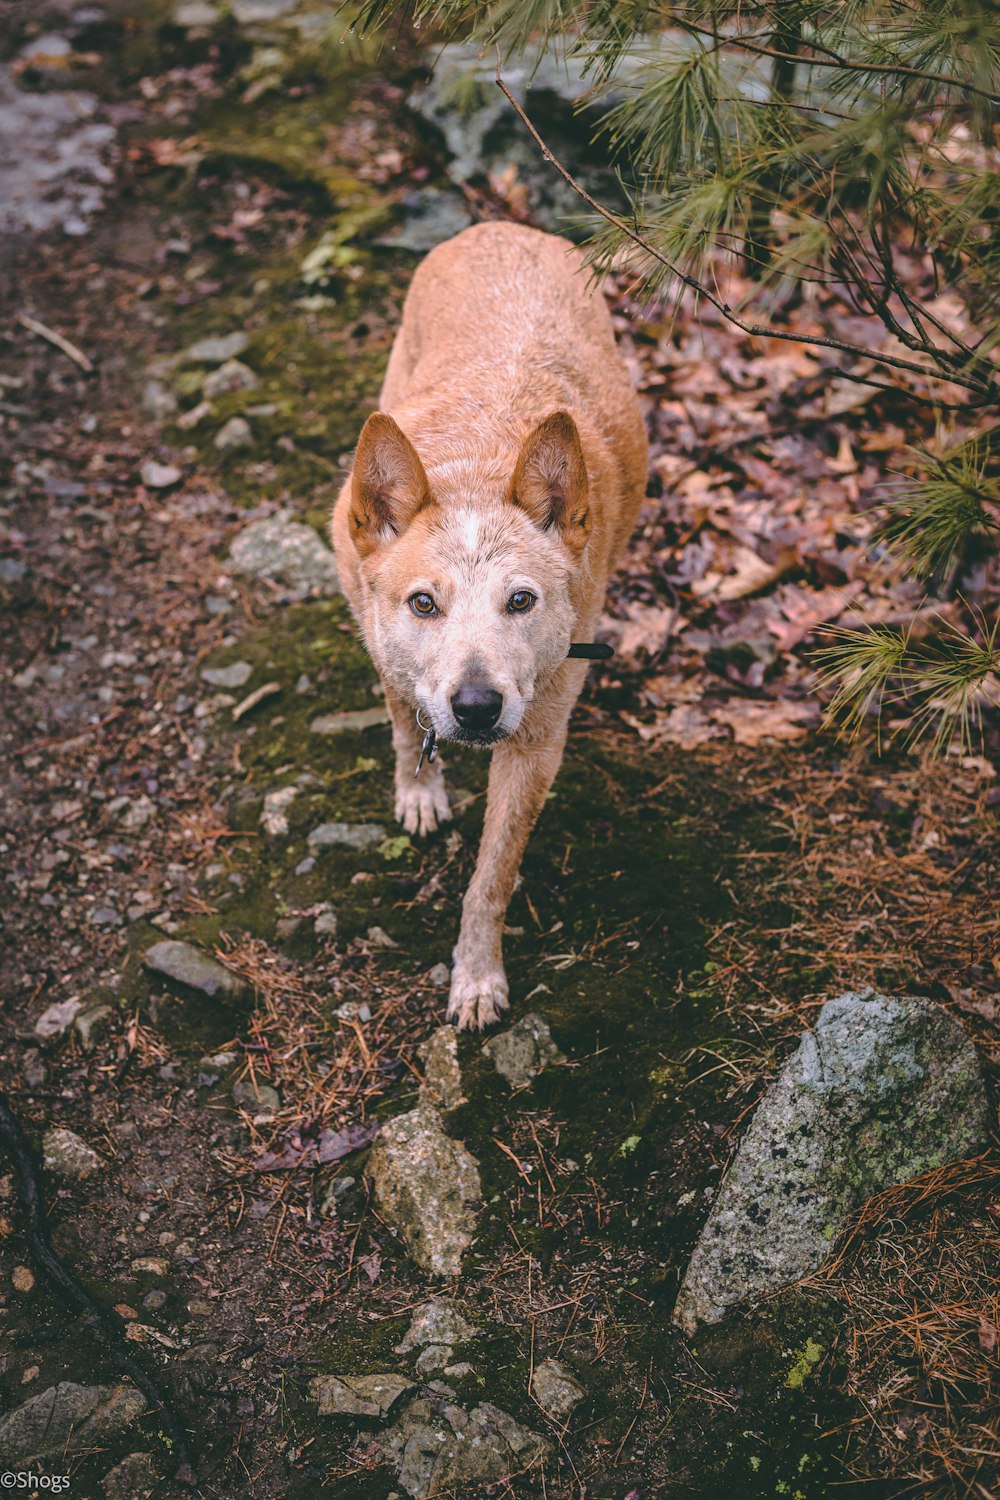
<path id="1" fill-rule="evenodd" d="M 450 818 L 441 760 L 415 776 L 426 729 L 493 746 L 448 1000 L 459 1026 L 489 1026 L 508 1004 L 504 916 L 586 674 L 567 651 L 592 639 L 634 526 L 646 435 L 582 256 L 513 224 L 423 261 L 381 406 L 333 542 L 385 684 L 403 828 Z"/>

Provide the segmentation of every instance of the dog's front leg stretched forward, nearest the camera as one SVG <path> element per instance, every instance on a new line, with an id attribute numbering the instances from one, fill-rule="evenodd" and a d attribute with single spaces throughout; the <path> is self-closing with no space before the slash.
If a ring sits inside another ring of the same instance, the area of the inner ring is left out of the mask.
<path id="1" fill-rule="evenodd" d="M 562 760 L 567 718 L 568 710 L 561 730 L 544 742 L 510 741 L 493 752 L 483 842 L 462 903 L 451 972 L 448 1020 L 460 1029 L 490 1026 L 507 1010 L 504 918 L 525 844 Z"/>

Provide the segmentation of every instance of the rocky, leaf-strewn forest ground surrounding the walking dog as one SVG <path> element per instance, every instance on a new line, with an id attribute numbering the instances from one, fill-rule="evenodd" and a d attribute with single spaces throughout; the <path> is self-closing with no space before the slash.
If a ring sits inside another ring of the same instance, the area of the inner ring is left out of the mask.
<path id="1" fill-rule="evenodd" d="M 321 528 L 415 252 L 565 206 L 495 118 L 448 172 L 387 48 L 291 0 L 0 21 L 0 1460 L 87 1497 L 985 1497 L 997 742 L 847 750 L 808 688 L 817 622 L 913 604 L 862 558 L 916 418 L 618 303 L 657 494 L 511 906 L 511 1024 L 456 1044 L 486 766 L 453 759 L 445 836 L 393 826 Z M 799 426 L 720 468 L 762 364 Z M 834 1173 L 834 1257 L 681 1332 L 762 1090 L 868 984 L 943 1008 L 951 1071 L 880 1053 L 922 1128 L 840 1089 L 838 1131 L 897 1143 Z"/>

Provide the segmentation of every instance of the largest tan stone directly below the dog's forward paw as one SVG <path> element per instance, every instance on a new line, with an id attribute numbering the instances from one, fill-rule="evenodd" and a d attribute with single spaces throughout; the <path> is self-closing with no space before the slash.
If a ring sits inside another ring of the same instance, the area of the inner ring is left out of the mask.
<path id="1" fill-rule="evenodd" d="M 436 1110 L 420 1104 L 387 1120 L 367 1164 L 375 1202 L 423 1270 L 456 1276 L 475 1232 L 478 1162 L 445 1136 Z"/>

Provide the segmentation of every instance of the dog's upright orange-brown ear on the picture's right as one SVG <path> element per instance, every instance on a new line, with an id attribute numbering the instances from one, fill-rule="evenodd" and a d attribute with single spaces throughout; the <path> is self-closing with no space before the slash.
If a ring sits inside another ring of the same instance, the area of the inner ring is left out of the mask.
<path id="1" fill-rule="evenodd" d="M 508 500 L 543 531 L 556 526 L 568 548 L 583 550 L 591 534 L 586 464 L 568 411 L 553 411 L 528 434 Z"/>

